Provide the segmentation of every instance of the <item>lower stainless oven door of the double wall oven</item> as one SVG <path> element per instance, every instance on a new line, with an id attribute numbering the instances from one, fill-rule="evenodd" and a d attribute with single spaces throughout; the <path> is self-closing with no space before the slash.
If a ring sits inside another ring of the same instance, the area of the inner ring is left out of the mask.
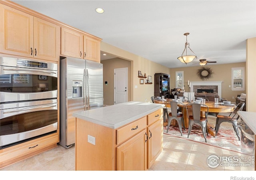
<path id="1" fill-rule="evenodd" d="M 0 105 L 0 149 L 35 138 L 58 127 L 57 100 Z"/>

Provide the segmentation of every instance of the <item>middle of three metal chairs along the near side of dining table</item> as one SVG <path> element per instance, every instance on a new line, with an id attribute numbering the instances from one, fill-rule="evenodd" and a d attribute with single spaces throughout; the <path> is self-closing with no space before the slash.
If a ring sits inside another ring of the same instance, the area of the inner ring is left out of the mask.
<path id="1" fill-rule="evenodd" d="M 201 107 L 207 108 L 207 111 L 205 111 L 205 117 L 201 116 Z M 188 103 L 186 104 L 186 112 L 188 117 L 188 137 L 190 135 L 190 132 L 192 130 L 192 126 L 194 124 L 198 124 L 202 128 L 204 140 L 206 141 L 206 133 L 208 135 L 207 131 L 207 116 L 209 112 L 209 108 L 205 104 L 196 104 L 196 103 Z M 189 115 L 192 112 L 192 115 Z"/>

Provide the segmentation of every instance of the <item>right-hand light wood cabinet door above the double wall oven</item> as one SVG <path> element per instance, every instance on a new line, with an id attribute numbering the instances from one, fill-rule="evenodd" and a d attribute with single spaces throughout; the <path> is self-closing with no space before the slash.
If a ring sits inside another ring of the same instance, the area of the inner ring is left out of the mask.
<path id="1" fill-rule="evenodd" d="M 60 27 L 34 17 L 34 58 L 58 61 Z"/>

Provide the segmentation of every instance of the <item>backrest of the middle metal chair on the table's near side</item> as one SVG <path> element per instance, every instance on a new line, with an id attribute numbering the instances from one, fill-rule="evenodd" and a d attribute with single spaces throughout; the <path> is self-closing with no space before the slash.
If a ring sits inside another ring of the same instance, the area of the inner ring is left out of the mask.
<path id="1" fill-rule="evenodd" d="M 197 103 L 188 103 L 188 104 L 186 104 L 187 117 L 189 117 L 189 112 L 191 112 L 191 110 L 192 110 L 192 116 L 193 116 L 194 120 L 195 121 L 200 121 L 201 107 L 207 108 L 207 111 L 205 111 L 205 116 L 206 116 L 206 119 L 207 119 L 208 112 L 209 112 L 209 107 L 205 104 L 197 104 Z"/>

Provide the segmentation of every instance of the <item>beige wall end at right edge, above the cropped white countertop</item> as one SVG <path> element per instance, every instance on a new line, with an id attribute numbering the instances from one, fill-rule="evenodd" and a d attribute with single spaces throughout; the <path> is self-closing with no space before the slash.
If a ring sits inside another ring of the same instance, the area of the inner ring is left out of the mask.
<path id="1" fill-rule="evenodd" d="M 256 112 L 254 101 L 256 100 L 256 38 L 250 38 L 246 41 L 246 111 Z"/>

